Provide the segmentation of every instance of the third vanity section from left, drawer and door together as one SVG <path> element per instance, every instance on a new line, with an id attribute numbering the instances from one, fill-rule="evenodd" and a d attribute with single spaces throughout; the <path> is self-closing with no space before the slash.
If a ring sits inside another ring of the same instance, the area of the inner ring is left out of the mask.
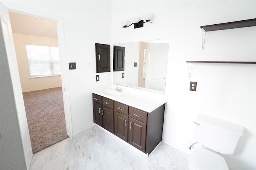
<path id="1" fill-rule="evenodd" d="M 114 101 L 114 134 L 128 142 L 129 106 Z"/>

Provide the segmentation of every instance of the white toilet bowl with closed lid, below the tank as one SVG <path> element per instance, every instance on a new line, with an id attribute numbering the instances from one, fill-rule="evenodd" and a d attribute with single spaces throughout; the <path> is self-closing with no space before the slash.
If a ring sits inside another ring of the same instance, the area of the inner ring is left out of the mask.
<path id="1" fill-rule="evenodd" d="M 194 149 L 188 159 L 190 170 L 229 170 L 225 159 L 204 148 Z"/>

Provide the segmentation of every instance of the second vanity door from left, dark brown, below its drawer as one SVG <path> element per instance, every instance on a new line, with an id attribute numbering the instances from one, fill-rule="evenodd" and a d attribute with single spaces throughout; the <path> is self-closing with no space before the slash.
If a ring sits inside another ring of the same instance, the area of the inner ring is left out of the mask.
<path id="1" fill-rule="evenodd" d="M 114 133 L 114 111 L 108 107 L 102 107 L 103 128 Z"/>

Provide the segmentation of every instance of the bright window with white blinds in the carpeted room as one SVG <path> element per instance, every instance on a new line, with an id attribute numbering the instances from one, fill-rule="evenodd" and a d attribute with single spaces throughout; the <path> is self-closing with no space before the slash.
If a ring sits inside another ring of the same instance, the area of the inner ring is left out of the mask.
<path id="1" fill-rule="evenodd" d="M 26 44 L 30 77 L 60 75 L 59 48 Z"/>

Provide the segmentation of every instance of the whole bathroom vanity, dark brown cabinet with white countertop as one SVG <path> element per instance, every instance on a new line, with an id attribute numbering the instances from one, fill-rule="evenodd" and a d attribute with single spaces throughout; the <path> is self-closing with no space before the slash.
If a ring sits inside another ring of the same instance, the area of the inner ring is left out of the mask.
<path id="1" fill-rule="evenodd" d="M 104 89 L 93 90 L 92 100 L 94 123 L 145 154 L 162 140 L 166 96 Z"/>

